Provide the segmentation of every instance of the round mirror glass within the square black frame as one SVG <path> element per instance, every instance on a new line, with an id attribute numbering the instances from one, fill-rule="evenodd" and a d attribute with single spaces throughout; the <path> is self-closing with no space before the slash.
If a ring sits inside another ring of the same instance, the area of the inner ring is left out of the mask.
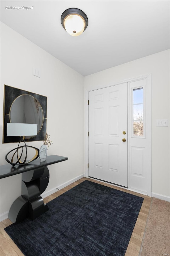
<path id="1" fill-rule="evenodd" d="M 37 124 L 37 134 L 43 126 L 43 109 L 39 101 L 29 94 L 20 95 L 12 102 L 9 115 L 11 123 Z M 32 137 L 34 136 L 25 136 Z"/>

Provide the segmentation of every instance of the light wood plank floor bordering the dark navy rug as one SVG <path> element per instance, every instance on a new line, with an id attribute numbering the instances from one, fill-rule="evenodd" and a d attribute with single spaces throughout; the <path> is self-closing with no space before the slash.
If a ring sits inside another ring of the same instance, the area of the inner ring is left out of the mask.
<path id="1" fill-rule="evenodd" d="M 96 182 L 96 183 L 108 186 L 108 187 L 113 187 L 114 189 L 118 189 L 118 190 L 130 193 L 133 195 L 138 195 L 138 196 L 144 197 L 143 204 L 142 204 L 141 210 L 139 212 L 138 219 L 135 224 L 135 227 L 134 227 L 133 233 L 131 235 L 130 242 L 129 242 L 129 245 L 128 245 L 128 248 L 127 248 L 126 254 L 125 254 L 125 256 L 138 256 L 139 252 L 140 252 L 140 248 L 141 248 L 141 243 L 142 243 L 143 234 L 145 231 L 145 226 L 146 226 L 146 221 L 147 221 L 150 205 L 151 205 L 151 200 L 152 200 L 151 197 L 147 197 L 142 194 L 138 194 L 138 193 L 135 193 L 135 192 L 123 189 L 123 188 L 119 188 L 119 187 L 113 186 L 111 184 L 106 184 L 104 182 L 95 181 L 95 180 L 88 179 L 88 178 L 82 178 L 82 179 L 79 179 L 78 181 L 72 183 L 71 185 L 57 191 L 56 193 L 50 195 L 49 197 L 46 197 L 44 199 L 44 202 L 48 203 L 52 199 L 65 193 L 67 190 L 78 185 L 79 183 L 83 182 L 86 179 L 90 180 L 92 182 Z M 4 221 L 1 222 L 0 255 L 1 256 L 24 256 L 24 254 L 20 251 L 20 249 L 15 245 L 15 243 L 12 241 L 12 239 L 8 236 L 8 234 L 4 230 L 4 228 L 9 226 L 10 224 L 12 224 L 12 222 L 9 219 L 5 219 Z M 42 256 L 45 256 L 45 255 L 42 255 Z"/>

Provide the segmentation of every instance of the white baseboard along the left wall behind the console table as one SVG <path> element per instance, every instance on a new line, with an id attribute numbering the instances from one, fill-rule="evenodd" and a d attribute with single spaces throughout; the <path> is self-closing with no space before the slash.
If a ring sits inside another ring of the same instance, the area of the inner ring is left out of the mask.
<path id="1" fill-rule="evenodd" d="M 45 198 L 45 197 L 48 197 L 49 195 L 52 195 L 53 193 L 57 192 L 57 188 L 60 190 L 60 189 L 63 189 L 63 187 L 66 187 L 68 185 L 70 185 L 71 183 L 75 182 L 75 181 L 78 181 L 79 179 L 83 178 L 84 177 L 84 173 L 82 175 L 79 175 L 77 177 L 75 177 L 74 179 L 70 179 L 69 181 L 59 185 L 58 187 L 55 187 L 53 189 L 50 189 L 46 192 L 44 192 L 43 194 L 41 194 L 41 197 L 42 198 Z M 5 213 L 2 213 L 0 215 L 0 221 L 3 221 L 4 219 L 7 219 L 8 218 L 8 213 L 9 211 L 6 211 Z"/>

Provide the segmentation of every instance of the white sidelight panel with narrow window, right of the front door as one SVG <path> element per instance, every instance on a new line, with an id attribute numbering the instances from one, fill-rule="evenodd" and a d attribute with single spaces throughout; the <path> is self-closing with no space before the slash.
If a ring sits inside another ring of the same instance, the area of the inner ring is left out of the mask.
<path id="1" fill-rule="evenodd" d="M 143 91 L 142 97 L 136 97 L 134 95 L 139 93 L 139 90 Z M 151 112 L 150 112 L 150 87 L 148 86 L 147 79 L 141 79 L 138 81 L 129 82 L 129 94 L 130 94 L 130 115 L 131 121 L 129 127 L 130 137 L 130 183 L 131 189 L 137 189 L 149 194 L 147 188 L 147 182 L 150 182 L 151 187 Z M 139 104 L 135 105 L 134 104 Z M 141 108 L 141 104 L 143 106 Z M 134 122 L 136 122 L 136 109 L 140 113 L 143 129 L 142 134 L 134 133 Z M 135 119 L 135 120 L 134 120 Z M 149 187 L 149 186 L 148 186 Z M 151 195 L 150 195 L 151 196 Z"/>

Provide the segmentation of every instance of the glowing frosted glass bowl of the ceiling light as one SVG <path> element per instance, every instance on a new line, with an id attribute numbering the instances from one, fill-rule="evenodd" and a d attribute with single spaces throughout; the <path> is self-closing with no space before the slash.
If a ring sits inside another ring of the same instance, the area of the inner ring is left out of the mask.
<path id="1" fill-rule="evenodd" d="M 84 31 L 85 22 L 82 17 L 77 14 L 69 15 L 64 21 L 65 30 L 70 35 L 77 37 L 81 35 Z"/>

